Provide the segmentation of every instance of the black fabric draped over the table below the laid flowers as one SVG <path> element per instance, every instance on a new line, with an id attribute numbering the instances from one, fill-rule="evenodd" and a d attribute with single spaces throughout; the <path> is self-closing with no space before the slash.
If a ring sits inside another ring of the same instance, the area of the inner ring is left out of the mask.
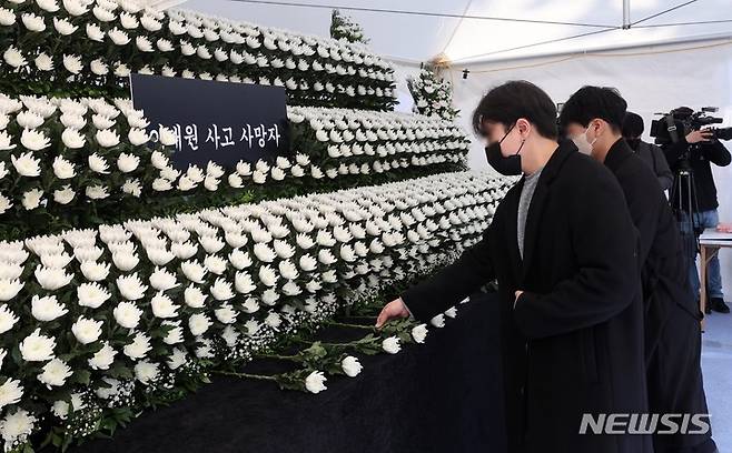
<path id="1" fill-rule="evenodd" d="M 359 453 L 505 451 L 498 306 L 494 294 L 458 305 L 444 329 L 396 355 L 359 356 L 355 379 L 317 394 L 214 378 L 186 400 L 144 414 L 112 440 L 77 453 Z M 248 366 L 247 372 L 266 366 Z"/>

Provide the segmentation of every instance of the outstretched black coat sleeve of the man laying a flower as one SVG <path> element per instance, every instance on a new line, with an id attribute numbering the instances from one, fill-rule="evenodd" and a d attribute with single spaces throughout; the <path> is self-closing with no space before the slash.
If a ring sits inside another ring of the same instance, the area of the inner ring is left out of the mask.
<path id="1" fill-rule="evenodd" d="M 463 252 L 457 261 L 402 294 L 402 300 L 414 318 L 429 322 L 433 316 L 455 305 L 494 279 L 488 248 L 491 232 L 494 229 L 494 222 L 491 222 L 483 233 L 483 239 Z"/>

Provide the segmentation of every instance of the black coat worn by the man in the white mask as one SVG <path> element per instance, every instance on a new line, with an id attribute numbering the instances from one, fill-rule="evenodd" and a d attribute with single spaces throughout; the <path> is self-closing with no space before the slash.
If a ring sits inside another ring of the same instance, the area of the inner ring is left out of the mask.
<path id="1" fill-rule="evenodd" d="M 641 234 L 649 403 L 656 414 L 706 414 L 701 372 L 702 313 L 689 286 L 679 225 L 653 171 L 619 140 L 605 165 L 620 182 Z M 656 453 L 706 442 L 711 433 L 659 435 Z"/>

